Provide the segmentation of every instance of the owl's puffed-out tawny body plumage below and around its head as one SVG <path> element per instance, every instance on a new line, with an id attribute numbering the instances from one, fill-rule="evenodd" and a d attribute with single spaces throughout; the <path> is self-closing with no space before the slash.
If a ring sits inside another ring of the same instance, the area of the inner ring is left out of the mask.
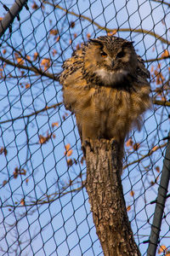
<path id="1" fill-rule="evenodd" d="M 88 137 L 122 141 L 133 125 L 140 126 L 141 114 L 150 108 L 149 73 L 138 56 L 137 75 L 130 77 L 133 90 L 127 90 L 127 84 L 122 84 L 121 90 L 98 84 L 95 76 L 88 78 L 90 71 L 83 69 L 86 47 L 63 65 L 59 82 L 63 84 L 65 108 L 76 114 L 82 142 Z"/>

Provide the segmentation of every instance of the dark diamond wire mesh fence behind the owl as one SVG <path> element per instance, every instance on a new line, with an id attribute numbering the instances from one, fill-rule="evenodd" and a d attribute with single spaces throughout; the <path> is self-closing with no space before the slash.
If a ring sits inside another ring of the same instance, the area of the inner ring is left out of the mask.
<path id="1" fill-rule="evenodd" d="M 0 1 L 0 16 L 14 1 Z M 62 104 L 62 63 L 89 38 L 134 41 L 150 70 L 153 108 L 125 144 L 122 185 L 146 255 L 169 131 L 170 4 L 158 0 L 28 1 L 1 38 L 1 255 L 103 255 L 75 117 Z M 170 207 L 158 255 L 170 255 Z"/>

